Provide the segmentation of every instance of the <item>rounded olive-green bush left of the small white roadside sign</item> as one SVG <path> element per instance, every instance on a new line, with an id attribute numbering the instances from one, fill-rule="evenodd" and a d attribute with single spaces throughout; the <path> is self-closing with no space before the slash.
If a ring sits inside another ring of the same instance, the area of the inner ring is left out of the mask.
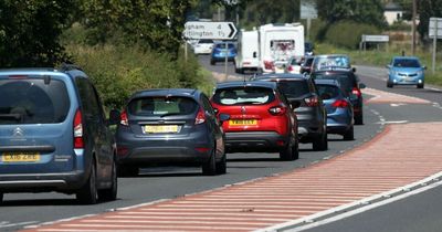
<path id="1" fill-rule="evenodd" d="M 379 34 L 380 30 L 370 24 L 343 21 L 330 25 L 325 40 L 337 46 L 357 49 L 362 34 Z"/>

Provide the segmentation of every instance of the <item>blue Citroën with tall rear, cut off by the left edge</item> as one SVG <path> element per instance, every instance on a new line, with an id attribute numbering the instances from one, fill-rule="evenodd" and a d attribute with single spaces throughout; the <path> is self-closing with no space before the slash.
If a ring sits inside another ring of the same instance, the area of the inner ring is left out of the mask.
<path id="1" fill-rule="evenodd" d="M 83 203 L 116 199 L 116 144 L 84 72 L 2 70 L 0 93 L 0 202 L 43 191 Z"/>

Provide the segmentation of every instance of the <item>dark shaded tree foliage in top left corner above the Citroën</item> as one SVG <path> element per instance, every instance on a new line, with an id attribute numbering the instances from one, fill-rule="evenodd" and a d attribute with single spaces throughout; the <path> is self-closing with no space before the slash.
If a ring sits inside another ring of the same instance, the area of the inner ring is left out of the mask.
<path id="1" fill-rule="evenodd" d="M 74 0 L 0 1 L 0 66 L 53 66 L 66 59 L 59 36 Z"/>

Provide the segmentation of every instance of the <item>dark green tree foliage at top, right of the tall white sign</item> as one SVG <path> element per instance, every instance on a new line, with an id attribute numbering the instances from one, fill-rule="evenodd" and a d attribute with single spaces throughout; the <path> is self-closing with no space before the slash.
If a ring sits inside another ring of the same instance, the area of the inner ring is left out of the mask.
<path id="1" fill-rule="evenodd" d="M 381 0 L 317 0 L 318 15 L 329 22 L 347 20 L 386 27 Z"/>

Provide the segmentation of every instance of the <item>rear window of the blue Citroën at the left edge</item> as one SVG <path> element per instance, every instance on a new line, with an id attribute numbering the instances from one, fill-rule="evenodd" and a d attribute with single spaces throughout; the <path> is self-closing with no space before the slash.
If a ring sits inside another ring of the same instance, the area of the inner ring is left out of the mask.
<path id="1" fill-rule="evenodd" d="M 0 124 L 54 124 L 66 118 L 70 99 L 59 80 L 0 80 Z"/>

